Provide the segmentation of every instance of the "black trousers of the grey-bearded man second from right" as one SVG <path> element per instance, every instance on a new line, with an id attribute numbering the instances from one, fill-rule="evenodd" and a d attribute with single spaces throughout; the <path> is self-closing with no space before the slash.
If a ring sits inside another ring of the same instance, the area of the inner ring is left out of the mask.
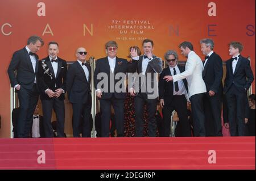
<path id="1" fill-rule="evenodd" d="M 221 103 L 222 92 L 210 96 L 207 92 L 204 96 L 204 116 L 206 136 L 222 136 L 221 127 Z"/>

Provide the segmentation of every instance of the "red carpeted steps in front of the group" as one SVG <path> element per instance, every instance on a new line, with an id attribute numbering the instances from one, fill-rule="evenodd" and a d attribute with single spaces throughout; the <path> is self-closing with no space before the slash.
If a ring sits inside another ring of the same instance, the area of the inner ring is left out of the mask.
<path id="1" fill-rule="evenodd" d="M 2 138 L 0 169 L 255 170 L 255 137 Z"/>

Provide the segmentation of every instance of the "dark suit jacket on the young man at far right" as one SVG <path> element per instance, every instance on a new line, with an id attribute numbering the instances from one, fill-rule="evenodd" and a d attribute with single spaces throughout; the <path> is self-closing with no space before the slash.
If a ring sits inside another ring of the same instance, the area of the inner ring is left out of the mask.
<path id="1" fill-rule="evenodd" d="M 238 58 L 236 70 L 233 73 L 232 58 L 226 61 L 226 78 L 224 85 L 224 92 L 228 92 L 229 88 L 234 83 L 234 86 L 241 92 L 246 92 L 253 82 L 253 71 L 251 71 L 250 61 L 241 54 Z"/>

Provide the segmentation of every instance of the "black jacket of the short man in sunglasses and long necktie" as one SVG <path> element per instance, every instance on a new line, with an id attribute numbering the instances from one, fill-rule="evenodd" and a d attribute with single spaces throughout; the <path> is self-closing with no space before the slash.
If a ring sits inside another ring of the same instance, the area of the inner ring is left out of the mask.
<path id="1" fill-rule="evenodd" d="M 183 73 L 185 71 L 184 66 L 178 65 L 178 68 L 180 70 L 180 73 Z M 169 66 L 167 68 L 163 69 L 162 73 L 159 77 L 159 99 L 164 99 L 164 104 L 168 105 L 171 103 L 172 98 L 174 96 L 174 82 L 169 81 L 166 82 L 163 78 L 166 75 L 172 75 Z M 185 89 L 188 92 L 188 82 L 187 79 L 182 79 Z"/>

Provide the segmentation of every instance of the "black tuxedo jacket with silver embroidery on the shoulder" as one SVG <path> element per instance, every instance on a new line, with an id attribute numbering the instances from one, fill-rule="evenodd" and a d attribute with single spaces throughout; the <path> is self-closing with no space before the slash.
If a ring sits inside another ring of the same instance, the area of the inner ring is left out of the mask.
<path id="1" fill-rule="evenodd" d="M 58 68 L 56 77 L 49 57 L 43 58 L 41 61 L 39 61 L 39 68 L 38 73 L 36 74 L 36 79 L 38 82 L 41 99 L 51 99 L 45 92 L 47 89 L 51 89 L 53 91 L 56 89 L 63 89 L 66 91 L 67 62 L 59 57 L 57 59 Z M 65 99 L 64 93 L 59 96 L 59 99 Z"/>

